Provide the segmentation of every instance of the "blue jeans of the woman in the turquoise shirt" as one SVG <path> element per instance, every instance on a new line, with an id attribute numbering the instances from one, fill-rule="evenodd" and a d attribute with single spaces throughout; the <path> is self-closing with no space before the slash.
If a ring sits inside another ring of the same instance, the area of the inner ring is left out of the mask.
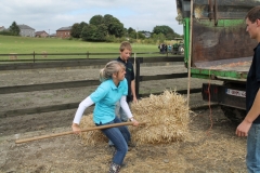
<path id="1" fill-rule="evenodd" d="M 104 124 L 95 124 L 95 125 L 106 125 L 110 123 L 119 123 L 121 120 L 119 118 L 115 118 L 113 121 L 104 123 Z M 127 151 L 128 151 L 128 142 L 130 141 L 130 133 L 127 129 L 127 127 L 117 127 L 117 128 L 108 128 L 108 129 L 103 129 L 101 130 L 106 137 L 108 137 L 115 148 L 116 148 L 116 154 L 114 155 L 113 162 L 116 164 L 121 165 Z"/>

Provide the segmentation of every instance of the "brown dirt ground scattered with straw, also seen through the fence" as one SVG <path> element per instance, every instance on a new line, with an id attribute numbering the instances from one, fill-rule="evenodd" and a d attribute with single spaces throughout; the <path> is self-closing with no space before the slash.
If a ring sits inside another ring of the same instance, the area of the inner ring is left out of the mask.
<path id="1" fill-rule="evenodd" d="M 183 65 L 141 67 L 141 75 L 160 75 L 185 71 Z M 96 79 L 99 69 L 44 69 L 1 71 L 0 86 Z M 192 88 L 207 80 L 192 79 Z M 142 82 L 141 92 L 165 89 L 186 89 L 186 79 Z M 43 92 L 2 94 L 0 109 L 12 110 L 80 102 L 95 86 Z M 185 95 L 184 95 L 185 96 Z M 191 96 L 191 106 L 207 104 L 200 94 Z M 87 109 L 86 115 L 91 112 Z M 211 111 L 210 111 L 211 110 Z M 21 115 L 0 120 L 0 172 L 18 173 L 103 173 L 107 172 L 112 150 L 107 144 L 86 146 L 79 136 L 65 135 L 48 139 L 15 144 L 15 139 L 70 131 L 76 109 L 44 114 Z M 125 159 L 126 173 L 237 173 L 246 172 L 246 138 L 235 136 L 236 125 L 220 108 L 191 112 L 186 142 L 141 145 L 131 148 Z M 211 121 L 212 120 L 212 121 Z"/>

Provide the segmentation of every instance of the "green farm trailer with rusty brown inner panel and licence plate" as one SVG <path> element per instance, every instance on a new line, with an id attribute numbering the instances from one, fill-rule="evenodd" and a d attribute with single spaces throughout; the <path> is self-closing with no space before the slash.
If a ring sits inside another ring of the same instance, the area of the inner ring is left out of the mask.
<path id="1" fill-rule="evenodd" d="M 246 32 L 245 16 L 256 5 L 260 0 L 177 0 L 184 63 L 193 78 L 223 81 L 204 83 L 202 95 L 218 103 L 233 122 L 246 116 L 246 78 L 257 41 Z"/>

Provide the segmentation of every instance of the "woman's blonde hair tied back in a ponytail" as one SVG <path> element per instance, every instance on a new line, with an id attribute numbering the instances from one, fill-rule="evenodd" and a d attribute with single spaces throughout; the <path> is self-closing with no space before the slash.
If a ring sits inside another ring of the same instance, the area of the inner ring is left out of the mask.
<path id="1" fill-rule="evenodd" d="M 112 61 L 100 70 L 100 81 L 103 82 L 110 79 L 113 74 L 117 74 L 121 68 L 126 69 L 126 66 L 117 61 Z"/>

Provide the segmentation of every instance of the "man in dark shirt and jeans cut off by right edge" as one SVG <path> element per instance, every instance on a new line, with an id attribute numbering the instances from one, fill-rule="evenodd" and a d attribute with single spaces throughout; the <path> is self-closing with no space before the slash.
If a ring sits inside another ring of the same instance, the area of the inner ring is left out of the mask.
<path id="1" fill-rule="evenodd" d="M 260 5 L 246 15 L 246 31 L 258 41 L 253 49 L 252 63 L 247 75 L 247 116 L 236 129 L 237 136 L 247 136 L 246 164 L 249 173 L 260 172 Z"/>

